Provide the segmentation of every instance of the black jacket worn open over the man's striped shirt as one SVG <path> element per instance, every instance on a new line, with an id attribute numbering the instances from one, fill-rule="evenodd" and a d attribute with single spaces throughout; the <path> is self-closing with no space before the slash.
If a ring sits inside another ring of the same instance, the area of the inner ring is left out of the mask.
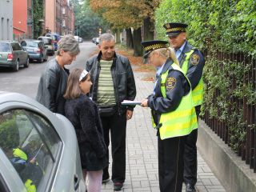
<path id="1" fill-rule="evenodd" d="M 90 97 L 97 103 L 98 93 L 98 77 L 101 71 L 100 59 L 102 52 L 94 55 L 86 62 L 86 70 L 90 71 L 90 80 L 93 86 L 90 89 Z M 111 66 L 111 74 L 114 84 L 114 94 L 118 106 L 118 113 L 122 114 L 127 109 L 133 110 L 134 106 L 122 106 L 123 100 L 134 100 L 136 97 L 136 86 L 134 81 L 134 73 L 131 69 L 128 58 L 114 54 L 113 64 Z"/>

